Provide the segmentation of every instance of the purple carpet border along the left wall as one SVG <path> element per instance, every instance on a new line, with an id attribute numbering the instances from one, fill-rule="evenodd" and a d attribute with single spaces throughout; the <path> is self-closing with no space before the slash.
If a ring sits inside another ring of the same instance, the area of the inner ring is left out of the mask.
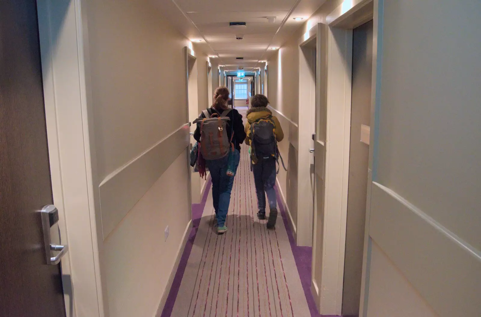
<path id="1" fill-rule="evenodd" d="M 167 300 L 165 301 L 164 309 L 162 310 L 162 315 L 160 315 L 160 317 L 170 317 L 170 315 L 172 314 L 172 310 L 174 309 L 177 293 L 180 289 L 180 283 L 182 282 L 182 277 L 184 276 L 187 262 L 189 261 L 190 251 L 192 251 L 192 246 L 194 245 L 195 236 L 197 235 L 197 230 L 199 229 L 199 224 L 201 222 L 202 214 L 211 185 L 212 180 L 209 178 L 205 186 L 205 191 L 201 203 L 192 204 L 192 229 L 190 230 L 189 239 L 187 240 L 184 252 L 182 253 L 182 257 L 180 258 L 176 275 L 174 277 L 174 280 L 172 281 L 172 286 L 170 287 L 169 295 L 167 296 Z"/>

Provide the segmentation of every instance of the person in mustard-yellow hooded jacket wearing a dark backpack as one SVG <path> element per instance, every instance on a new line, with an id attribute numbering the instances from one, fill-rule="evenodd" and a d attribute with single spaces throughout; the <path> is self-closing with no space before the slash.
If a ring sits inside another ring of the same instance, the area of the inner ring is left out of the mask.
<path id="1" fill-rule="evenodd" d="M 284 133 L 278 119 L 267 109 L 269 100 L 257 94 L 252 98 L 252 108 L 247 111 L 245 143 L 251 146 L 252 169 L 257 195 L 257 218 L 266 219 L 266 194 L 269 202 L 267 228 L 273 229 L 277 221 L 276 162 L 278 159 L 277 142 L 282 141 Z"/>

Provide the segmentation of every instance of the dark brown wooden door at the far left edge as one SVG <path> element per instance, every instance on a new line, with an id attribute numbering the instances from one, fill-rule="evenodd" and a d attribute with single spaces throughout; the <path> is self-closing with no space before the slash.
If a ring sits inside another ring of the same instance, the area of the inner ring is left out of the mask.
<path id="1" fill-rule="evenodd" d="M 52 204 L 35 0 L 0 2 L 0 316 L 65 316 L 40 210 Z"/>

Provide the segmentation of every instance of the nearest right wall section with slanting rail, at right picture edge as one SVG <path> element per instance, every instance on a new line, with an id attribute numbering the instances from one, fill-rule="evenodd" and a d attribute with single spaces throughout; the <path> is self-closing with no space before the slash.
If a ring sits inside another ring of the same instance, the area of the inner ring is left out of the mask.
<path id="1" fill-rule="evenodd" d="M 479 315 L 481 2 L 379 3 L 367 316 L 404 305 L 399 296 L 376 305 L 391 293 L 380 280 L 401 274 L 412 285 L 406 296 L 439 316 Z M 376 265 L 378 250 L 397 273 Z"/>

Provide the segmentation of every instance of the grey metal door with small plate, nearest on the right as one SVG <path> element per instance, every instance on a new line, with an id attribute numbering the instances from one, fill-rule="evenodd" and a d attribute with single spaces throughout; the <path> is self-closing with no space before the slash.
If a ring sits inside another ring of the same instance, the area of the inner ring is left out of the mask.
<path id="1" fill-rule="evenodd" d="M 370 125 L 372 34 L 372 21 L 353 31 L 351 146 L 342 316 L 359 314 L 369 159 L 369 145 L 361 142 L 361 134 Z"/>

